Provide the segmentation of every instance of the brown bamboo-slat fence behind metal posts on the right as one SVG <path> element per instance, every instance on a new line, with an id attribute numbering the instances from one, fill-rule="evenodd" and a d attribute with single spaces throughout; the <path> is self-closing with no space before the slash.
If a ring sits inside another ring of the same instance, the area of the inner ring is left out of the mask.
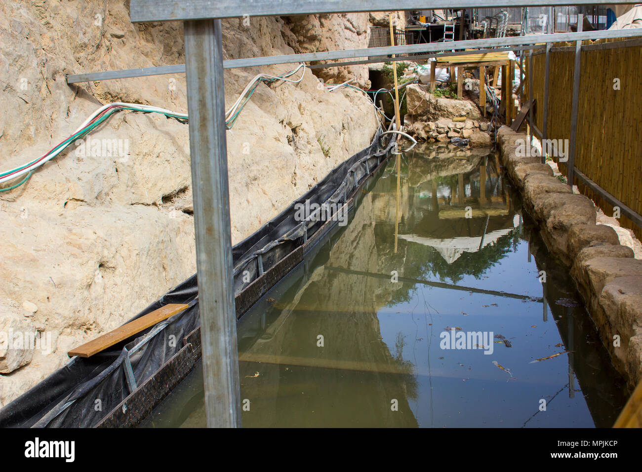
<path id="1" fill-rule="evenodd" d="M 616 44 L 627 47 L 610 48 L 605 45 L 607 41 L 617 41 Z M 584 46 L 581 53 L 575 168 L 634 212 L 642 214 L 642 193 L 639 191 L 642 120 L 637 118 L 642 107 L 638 74 L 642 67 L 642 42 L 598 40 L 584 44 L 591 46 Z M 570 136 L 574 60 L 575 46 L 551 49 L 548 139 L 568 139 Z M 534 53 L 533 96 L 542 104 L 537 107 L 534 117 L 539 129 L 544 127 L 545 66 L 546 55 Z M 528 86 L 526 82 L 525 96 L 528 96 Z M 566 174 L 563 164 L 560 170 Z M 578 180 L 575 183 L 579 183 Z M 598 193 L 582 184 L 578 186 L 584 195 L 602 207 L 605 214 L 613 214 L 612 205 Z M 642 238 L 642 228 L 632 220 L 622 216 L 620 223 Z"/>

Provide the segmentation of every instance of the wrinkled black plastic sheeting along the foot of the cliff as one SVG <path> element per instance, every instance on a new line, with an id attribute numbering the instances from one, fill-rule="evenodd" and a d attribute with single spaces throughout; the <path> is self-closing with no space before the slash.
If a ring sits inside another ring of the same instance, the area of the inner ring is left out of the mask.
<path id="1" fill-rule="evenodd" d="M 336 166 L 290 207 L 232 248 L 234 295 L 261 275 L 261 265 L 263 272 L 267 272 L 323 225 L 324 220 L 314 215 L 309 220 L 297 221 L 295 204 L 305 204 L 306 200 L 309 204 L 343 204 L 352 196 L 364 177 L 377 167 L 381 156 L 394 146 L 390 139 L 386 148 L 381 148 L 380 137 L 377 132 L 368 148 Z M 192 275 L 131 320 L 169 303 L 187 303 L 187 310 L 110 347 L 109 351 L 91 358 L 72 358 L 62 369 L 4 406 L 0 410 L 0 427 L 96 426 L 130 395 L 125 375 L 128 355 L 135 381 L 141 385 L 184 347 L 184 337 L 200 326 L 197 296 L 196 275 Z M 132 350 L 134 353 L 130 353 Z"/>

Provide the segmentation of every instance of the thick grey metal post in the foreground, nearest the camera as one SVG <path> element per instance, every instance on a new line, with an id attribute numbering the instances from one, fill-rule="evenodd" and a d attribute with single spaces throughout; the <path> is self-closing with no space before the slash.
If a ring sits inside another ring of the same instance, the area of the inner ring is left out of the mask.
<path id="1" fill-rule="evenodd" d="M 220 20 L 185 21 L 187 109 L 207 426 L 241 426 Z"/>

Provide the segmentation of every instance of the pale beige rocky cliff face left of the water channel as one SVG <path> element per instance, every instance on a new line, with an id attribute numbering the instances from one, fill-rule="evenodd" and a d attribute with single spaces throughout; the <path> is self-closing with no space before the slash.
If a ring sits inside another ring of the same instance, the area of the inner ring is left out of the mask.
<path id="1" fill-rule="evenodd" d="M 363 48 L 367 22 L 367 13 L 232 19 L 223 49 L 227 59 Z M 184 63 L 182 37 L 180 22 L 130 23 L 126 0 L 4 1 L 0 168 L 36 159 L 104 103 L 186 112 L 180 74 L 65 83 L 67 73 Z M 227 69 L 226 102 L 255 74 L 293 67 Z M 364 67 L 319 74 L 367 83 Z M 364 94 L 327 92 L 309 70 L 297 84 L 260 85 L 227 132 L 232 242 L 367 146 L 376 126 Z M 89 152 L 94 139 L 119 152 Z M 187 125 L 138 112 L 119 112 L 0 193 L 0 405 L 195 272 L 191 208 Z"/>

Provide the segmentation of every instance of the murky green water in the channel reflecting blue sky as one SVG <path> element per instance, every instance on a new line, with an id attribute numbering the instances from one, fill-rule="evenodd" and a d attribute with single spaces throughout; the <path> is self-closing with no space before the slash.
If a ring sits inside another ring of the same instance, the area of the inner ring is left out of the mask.
<path id="1" fill-rule="evenodd" d="M 498 159 L 400 165 L 239 322 L 243 426 L 611 426 L 623 383 Z M 205 426 L 201 368 L 142 426 Z"/>

